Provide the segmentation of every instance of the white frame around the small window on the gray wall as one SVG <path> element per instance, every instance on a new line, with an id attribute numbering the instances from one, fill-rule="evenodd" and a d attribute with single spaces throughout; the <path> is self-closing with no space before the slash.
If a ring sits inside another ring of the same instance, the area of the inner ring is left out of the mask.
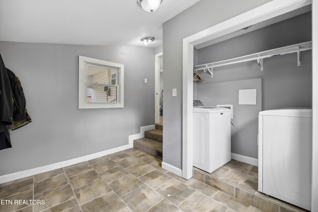
<path id="1" fill-rule="evenodd" d="M 119 98 L 116 103 L 87 102 L 87 64 L 118 69 Z M 124 65 L 113 62 L 79 56 L 79 109 L 123 108 L 124 107 Z"/>

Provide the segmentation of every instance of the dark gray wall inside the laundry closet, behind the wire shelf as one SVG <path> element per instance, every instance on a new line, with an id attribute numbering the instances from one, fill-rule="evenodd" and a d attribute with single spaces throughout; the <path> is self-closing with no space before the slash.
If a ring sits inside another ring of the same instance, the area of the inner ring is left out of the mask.
<path id="1" fill-rule="evenodd" d="M 297 29 L 297 30 L 295 30 Z M 248 55 L 291 44 L 311 41 L 311 12 L 264 27 L 259 30 L 229 39 L 227 41 L 198 50 L 199 64 L 225 60 Z M 214 69 L 214 76 L 203 71 L 199 74 L 205 79 L 198 86 L 198 98 L 208 95 L 199 86 L 239 79 L 262 78 L 262 110 L 281 107 L 312 106 L 312 54 L 301 53 L 301 66 L 297 66 L 297 54 L 264 59 L 264 71 L 256 61 Z M 246 84 L 245 86 L 251 86 Z M 205 86 L 206 87 L 206 86 Z M 252 88 L 252 87 L 251 87 Z M 211 90 L 211 93 L 218 92 Z M 211 98 L 213 96 L 211 95 Z M 250 117 L 252 116 L 252 117 Z M 254 120 L 257 114 L 246 114 L 246 119 Z M 242 123 L 243 120 L 233 120 Z M 239 132 L 232 128 L 232 152 L 257 158 L 257 126 L 248 123 L 239 126 Z M 249 136 L 249 138 L 246 138 Z"/>

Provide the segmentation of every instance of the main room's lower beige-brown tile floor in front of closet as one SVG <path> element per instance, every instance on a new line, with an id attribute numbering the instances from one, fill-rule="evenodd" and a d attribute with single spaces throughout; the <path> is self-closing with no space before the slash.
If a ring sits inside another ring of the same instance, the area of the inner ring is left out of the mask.
<path id="1" fill-rule="evenodd" d="M 158 158 L 131 148 L 4 183 L 0 185 L 0 212 L 260 211 L 160 165 Z"/>

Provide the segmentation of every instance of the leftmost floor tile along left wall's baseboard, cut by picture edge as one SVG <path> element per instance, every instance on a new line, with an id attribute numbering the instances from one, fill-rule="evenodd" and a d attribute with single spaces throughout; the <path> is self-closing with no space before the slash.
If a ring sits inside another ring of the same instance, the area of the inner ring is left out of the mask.
<path id="1" fill-rule="evenodd" d="M 5 183 L 0 186 L 0 199 L 33 189 L 33 177 Z"/>

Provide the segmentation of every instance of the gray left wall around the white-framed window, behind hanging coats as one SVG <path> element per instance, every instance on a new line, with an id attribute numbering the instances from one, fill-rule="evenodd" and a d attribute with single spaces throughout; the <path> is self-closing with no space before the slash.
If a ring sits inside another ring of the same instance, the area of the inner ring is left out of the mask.
<path id="1" fill-rule="evenodd" d="M 154 48 L 0 42 L 0 54 L 20 78 L 32 118 L 11 132 L 0 175 L 128 144 L 155 122 Z M 124 108 L 78 109 L 79 55 L 125 65 Z"/>

